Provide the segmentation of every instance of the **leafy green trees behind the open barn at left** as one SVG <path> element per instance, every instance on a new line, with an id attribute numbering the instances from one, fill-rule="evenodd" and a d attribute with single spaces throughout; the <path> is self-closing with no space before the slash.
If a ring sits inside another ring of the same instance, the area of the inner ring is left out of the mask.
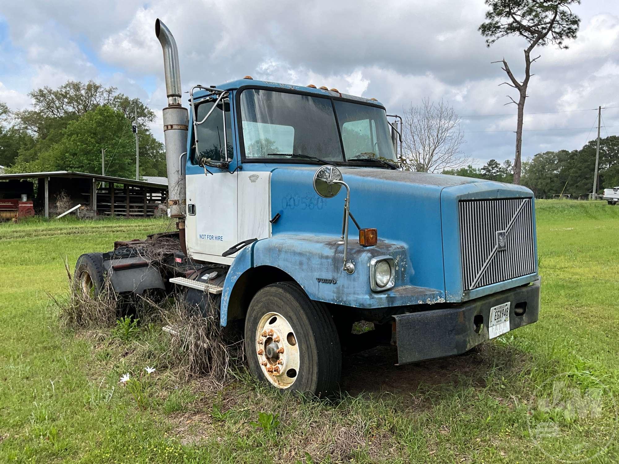
<path id="1" fill-rule="evenodd" d="M 0 165 L 7 173 L 40 171 L 102 172 L 133 178 L 136 142 L 131 125 L 137 106 L 140 175 L 165 176 L 165 149 L 149 124 L 155 113 L 115 87 L 67 81 L 58 88 L 30 92 L 32 105 L 11 111 L 0 102 Z"/>

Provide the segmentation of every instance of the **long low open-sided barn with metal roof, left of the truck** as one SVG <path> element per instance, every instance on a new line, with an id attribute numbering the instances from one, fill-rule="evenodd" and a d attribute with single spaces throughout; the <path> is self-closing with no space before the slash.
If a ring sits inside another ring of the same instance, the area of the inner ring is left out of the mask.
<path id="1" fill-rule="evenodd" d="M 165 211 L 167 196 L 168 186 L 160 181 L 71 171 L 0 174 L 0 217 L 5 219 L 25 210 L 49 218 L 77 205 L 80 216 L 152 217 Z"/>

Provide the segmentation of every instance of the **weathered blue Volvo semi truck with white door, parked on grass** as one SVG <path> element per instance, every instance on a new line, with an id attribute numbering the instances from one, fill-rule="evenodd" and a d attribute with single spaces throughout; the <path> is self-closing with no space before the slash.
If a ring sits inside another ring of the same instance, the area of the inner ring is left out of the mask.
<path id="1" fill-rule="evenodd" d="M 413 363 L 537 320 L 529 189 L 400 170 L 384 106 L 334 88 L 246 76 L 194 86 L 187 110 L 175 40 L 160 20 L 155 33 L 182 251 L 146 262 L 138 242 L 81 256 L 85 291 L 108 274 L 118 293 L 197 306 L 209 294 L 222 326 L 243 327 L 256 377 L 316 394 L 337 387 L 342 350 L 392 345 Z M 374 330 L 353 334 L 360 320 Z"/>

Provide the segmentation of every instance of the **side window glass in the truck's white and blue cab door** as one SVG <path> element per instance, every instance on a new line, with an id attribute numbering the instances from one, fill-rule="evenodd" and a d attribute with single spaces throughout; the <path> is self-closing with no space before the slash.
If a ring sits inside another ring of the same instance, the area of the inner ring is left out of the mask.
<path id="1" fill-rule="evenodd" d="M 196 107 L 196 120 L 202 121 L 211 108 L 214 101 L 199 103 Z M 223 127 L 223 113 L 225 113 L 225 128 Z M 224 137 L 225 131 L 225 137 Z M 197 137 L 196 137 L 197 135 Z M 196 150 L 196 138 L 197 149 Z M 210 113 L 209 118 L 197 126 L 194 133 L 194 143 L 191 148 L 191 162 L 194 165 L 201 164 L 202 160 L 225 161 L 224 139 L 228 148 L 228 160 L 233 157 L 232 122 L 230 121 L 230 102 L 220 101 L 217 108 Z"/>

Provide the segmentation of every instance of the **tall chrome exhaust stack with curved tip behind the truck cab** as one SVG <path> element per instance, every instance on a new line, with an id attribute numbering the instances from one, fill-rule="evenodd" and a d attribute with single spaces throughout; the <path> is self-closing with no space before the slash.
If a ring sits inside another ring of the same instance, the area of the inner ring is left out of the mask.
<path id="1" fill-rule="evenodd" d="M 168 95 L 168 106 L 163 108 L 163 137 L 165 139 L 165 161 L 168 170 L 168 216 L 179 218 L 178 228 L 181 234 L 181 245 L 186 254 L 184 249 L 186 192 L 182 161 L 187 150 L 189 113 L 186 108 L 181 106 L 181 72 L 174 36 L 159 19 L 155 21 L 155 35 L 163 49 L 165 90 Z"/>

